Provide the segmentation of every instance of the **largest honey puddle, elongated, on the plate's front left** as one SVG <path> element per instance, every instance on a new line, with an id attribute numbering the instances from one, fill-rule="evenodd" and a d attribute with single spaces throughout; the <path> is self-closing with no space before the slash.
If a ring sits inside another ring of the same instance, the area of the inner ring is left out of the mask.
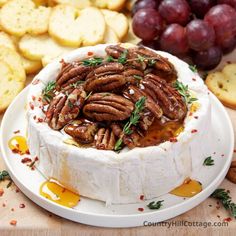
<path id="1" fill-rule="evenodd" d="M 80 200 L 79 194 L 71 192 L 54 180 L 42 183 L 39 192 L 50 201 L 70 208 L 76 206 Z"/>

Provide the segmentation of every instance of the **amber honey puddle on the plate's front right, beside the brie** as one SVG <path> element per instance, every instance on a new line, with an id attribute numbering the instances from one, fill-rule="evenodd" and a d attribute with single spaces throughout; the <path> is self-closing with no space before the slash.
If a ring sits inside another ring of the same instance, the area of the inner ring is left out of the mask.
<path id="1" fill-rule="evenodd" d="M 187 178 L 183 184 L 173 189 L 170 194 L 179 197 L 193 197 L 202 191 L 202 185 L 197 180 Z"/>

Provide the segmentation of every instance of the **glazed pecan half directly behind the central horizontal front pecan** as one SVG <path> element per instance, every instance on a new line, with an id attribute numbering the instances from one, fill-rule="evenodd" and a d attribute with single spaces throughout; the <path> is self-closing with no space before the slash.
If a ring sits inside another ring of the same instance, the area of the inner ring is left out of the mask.
<path id="1" fill-rule="evenodd" d="M 103 92 L 112 91 L 126 83 L 122 75 L 124 66 L 117 62 L 102 64 L 90 72 L 86 78 L 85 90 Z"/>

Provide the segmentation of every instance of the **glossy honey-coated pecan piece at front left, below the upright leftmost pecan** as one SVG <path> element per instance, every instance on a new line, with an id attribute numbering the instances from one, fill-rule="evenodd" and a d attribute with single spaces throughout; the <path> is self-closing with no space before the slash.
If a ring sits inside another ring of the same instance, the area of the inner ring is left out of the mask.
<path id="1" fill-rule="evenodd" d="M 86 119 L 73 120 L 64 130 L 79 143 L 92 143 L 97 132 L 97 124 Z"/>

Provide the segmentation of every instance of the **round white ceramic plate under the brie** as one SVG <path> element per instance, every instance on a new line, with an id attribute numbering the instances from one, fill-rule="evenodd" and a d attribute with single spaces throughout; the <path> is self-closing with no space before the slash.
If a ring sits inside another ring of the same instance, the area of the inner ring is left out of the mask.
<path id="1" fill-rule="evenodd" d="M 103 202 L 81 198 L 79 204 L 71 209 L 60 206 L 39 195 L 39 187 L 45 181 L 38 171 L 32 171 L 21 163 L 21 157 L 13 154 L 8 148 L 8 140 L 14 131 L 26 133 L 26 96 L 24 89 L 6 111 L 0 130 L 0 146 L 7 169 L 21 191 L 39 206 L 61 217 L 94 226 L 134 227 L 142 226 L 145 221 L 159 222 L 180 215 L 204 201 L 223 181 L 233 155 L 234 135 L 231 121 L 224 107 L 211 94 L 212 127 L 209 127 L 211 139 L 208 153 L 215 160 L 214 166 L 202 166 L 201 171 L 193 173 L 192 178 L 203 184 L 203 191 L 192 198 L 181 198 L 171 194 L 163 195 L 155 200 L 164 200 L 159 210 L 150 210 L 146 205 L 150 201 L 137 204 L 112 205 L 106 207 Z M 144 208 L 143 212 L 138 208 Z"/>

